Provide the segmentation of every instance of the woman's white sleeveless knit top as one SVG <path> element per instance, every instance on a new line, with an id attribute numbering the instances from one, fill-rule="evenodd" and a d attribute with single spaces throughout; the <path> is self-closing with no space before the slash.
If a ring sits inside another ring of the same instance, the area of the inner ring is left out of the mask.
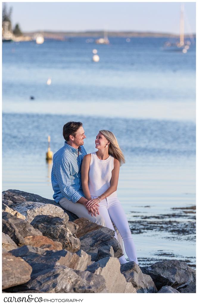
<path id="1" fill-rule="evenodd" d="M 91 196 L 100 196 L 110 187 L 112 170 L 114 168 L 114 158 L 109 155 L 106 160 L 100 160 L 95 152 L 91 153 L 89 165 L 88 187 Z M 117 196 L 113 192 L 109 197 Z"/>

